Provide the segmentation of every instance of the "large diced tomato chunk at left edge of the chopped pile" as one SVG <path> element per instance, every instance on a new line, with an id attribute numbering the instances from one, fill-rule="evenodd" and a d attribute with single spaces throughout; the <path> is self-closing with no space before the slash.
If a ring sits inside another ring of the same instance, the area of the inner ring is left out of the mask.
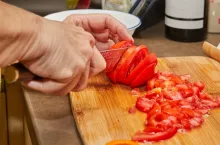
<path id="1" fill-rule="evenodd" d="M 148 112 L 152 106 L 154 105 L 155 101 L 149 100 L 145 97 L 137 98 L 136 108 L 142 112 Z"/>

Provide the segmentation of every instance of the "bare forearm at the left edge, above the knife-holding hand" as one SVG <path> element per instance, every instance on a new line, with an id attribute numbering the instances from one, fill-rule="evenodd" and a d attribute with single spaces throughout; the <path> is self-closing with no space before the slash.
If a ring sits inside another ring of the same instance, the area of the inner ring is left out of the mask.
<path id="1" fill-rule="evenodd" d="M 25 55 L 40 31 L 42 18 L 0 1 L 0 67 Z"/>

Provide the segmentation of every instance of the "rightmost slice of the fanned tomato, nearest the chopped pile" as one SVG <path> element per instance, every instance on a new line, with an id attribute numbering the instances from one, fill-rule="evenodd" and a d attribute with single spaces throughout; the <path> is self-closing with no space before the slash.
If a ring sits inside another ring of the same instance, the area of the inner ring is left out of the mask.
<path id="1" fill-rule="evenodd" d="M 146 67 L 138 76 L 137 78 L 132 82 L 131 88 L 140 87 L 144 85 L 149 79 L 153 78 L 155 75 L 155 67 L 157 63 L 153 63 Z"/>

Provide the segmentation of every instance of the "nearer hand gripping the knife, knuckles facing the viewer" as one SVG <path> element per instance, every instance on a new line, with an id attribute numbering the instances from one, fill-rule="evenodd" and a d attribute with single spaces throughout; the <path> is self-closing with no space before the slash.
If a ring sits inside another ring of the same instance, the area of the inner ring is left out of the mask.
<path id="1" fill-rule="evenodd" d="M 88 79 L 105 69 L 94 37 L 76 25 L 44 20 L 34 43 L 19 60 L 42 80 L 25 85 L 56 95 L 80 91 Z M 95 59 L 94 59 L 95 58 Z"/>

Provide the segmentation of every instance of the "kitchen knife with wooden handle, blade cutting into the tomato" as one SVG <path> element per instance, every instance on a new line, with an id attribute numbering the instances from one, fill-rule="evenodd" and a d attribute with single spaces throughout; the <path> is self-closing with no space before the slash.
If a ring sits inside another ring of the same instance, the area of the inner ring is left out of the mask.
<path id="1" fill-rule="evenodd" d="M 106 72 L 113 71 L 118 61 L 124 54 L 127 48 L 118 48 L 113 50 L 101 50 L 100 53 L 106 61 Z M 26 67 L 21 63 L 15 63 L 10 66 L 7 66 L 4 70 L 4 78 L 6 83 L 11 84 L 19 81 L 28 81 L 28 80 L 39 80 L 41 77 L 36 76 L 30 72 Z"/>

